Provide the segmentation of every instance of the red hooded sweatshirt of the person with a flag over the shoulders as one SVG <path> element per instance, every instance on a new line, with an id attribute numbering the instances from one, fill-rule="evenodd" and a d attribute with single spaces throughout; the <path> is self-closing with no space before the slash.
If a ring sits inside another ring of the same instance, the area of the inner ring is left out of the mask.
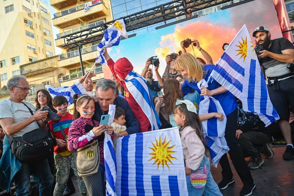
<path id="1" fill-rule="evenodd" d="M 121 81 L 117 77 L 119 76 L 121 79 L 125 80 L 128 73 L 133 70 L 132 63 L 127 58 L 120 58 L 115 63 L 112 59 L 109 59 L 107 61 L 107 65 L 110 68 L 114 78 L 123 86 L 123 88 L 125 88 L 125 99 L 128 101 L 131 109 L 133 110 L 134 116 L 140 123 L 141 132 L 151 131 L 151 124 L 149 119 L 147 118 L 137 101 L 133 98 L 130 91 L 128 91 L 125 81 Z"/>

